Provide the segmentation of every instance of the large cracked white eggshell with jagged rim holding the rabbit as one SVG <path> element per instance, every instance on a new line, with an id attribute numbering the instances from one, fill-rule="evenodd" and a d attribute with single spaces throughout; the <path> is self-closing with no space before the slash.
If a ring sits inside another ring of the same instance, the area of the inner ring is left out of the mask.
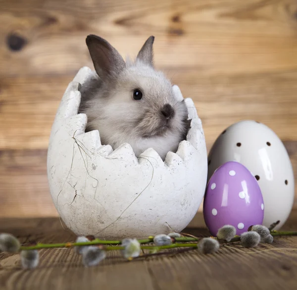
<path id="1" fill-rule="evenodd" d="M 182 231 L 197 213 L 206 186 L 201 120 L 190 110 L 187 140 L 164 162 L 151 148 L 139 158 L 127 143 L 113 151 L 101 145 L 98 130 L 85 133 L 87 116 L 77 114 L 79 88 L 93 74 L 88 67 L 80 69 L 51 129 L 48 179 L 59 216 L 77 235 L 124 238 Z M 182 97 L 178 87 L 174 91 Z M 194 107 L 191 99 L 186 104 Z"/>

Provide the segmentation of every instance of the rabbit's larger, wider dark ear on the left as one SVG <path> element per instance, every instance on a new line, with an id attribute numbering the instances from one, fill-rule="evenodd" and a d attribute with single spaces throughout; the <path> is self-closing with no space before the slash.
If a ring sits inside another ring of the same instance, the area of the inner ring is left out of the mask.
<path id="1" fill-rule="evenodd" d="M 105 39 L 91 34 L 87 36 L 86 44 L 101 79 L 115 77 L 125 67 L 124 59 Z"/>

